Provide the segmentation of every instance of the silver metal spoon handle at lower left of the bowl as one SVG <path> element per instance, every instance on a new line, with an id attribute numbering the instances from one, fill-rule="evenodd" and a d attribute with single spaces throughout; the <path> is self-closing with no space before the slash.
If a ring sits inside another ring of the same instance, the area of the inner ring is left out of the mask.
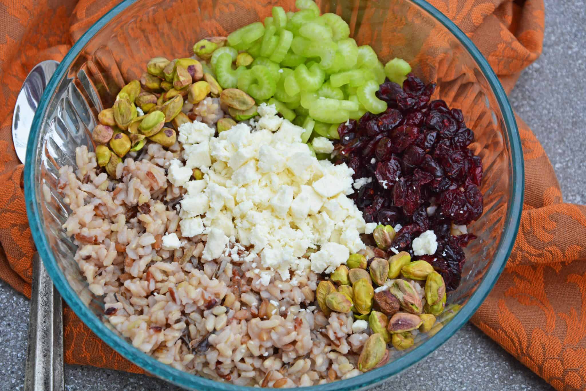
<path id="1" fill-rule="evenodd" d="M 39 253 L 33 256 L 30 299 L 24 390 L 63 390 L 63 307 Z"/>

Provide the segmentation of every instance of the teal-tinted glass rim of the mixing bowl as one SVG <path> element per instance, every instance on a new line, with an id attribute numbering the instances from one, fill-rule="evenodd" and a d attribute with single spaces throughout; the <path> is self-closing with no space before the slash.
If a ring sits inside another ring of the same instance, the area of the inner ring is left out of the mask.
<path id="1" fill-rule="evenodd" d="M 56 89 L 58 81 L 62 80 L 64 76 L 67 76 L 67 70 L 71 63 L 79 55 L 81 49 L 93 38 L 96 33 L 107 25 L 118 13 L 124 11 L 128 6 L 134 4 L 138 0 L 124 0 L 120 4 L 114 6 L 110 11 L 105 13 L 97 22 L 95 22 L 77 42 L 71 47 L 69 52 L 60 62 L 59 67 L 53 74 L 52 79 L 47 84 L 47 87 L 43 93 L 43 97 L 40 100 L 39 108 L 35 113 L 33 119 L 32 128 L 28 139 L 26 148 L 26 162 L 32 162 L 35 154 L 37 154 L 37 148 L 39 144 L 39 132 L 43 125 L 43 118 L 47 108 L 49 107 L 49 101 Z M 472 43 L 472 41 L 465 35 L 462 30 L 455 25 L 447 16 L 438 11 L 434 6 L 424 0 L 410 0 L 415 5 L 420 6 L 425 12 L 433 16 L 438 22 L 440 22 L 445 28 L 447 28 L 456 39 L 459 40 L 462 46 L 468 50 L 468 53 L 478 64 L 482 73 L 488 80 L 490 88 L 495 94 L 496 100 L 498 101 L 500 111 L 503 114 L 503 120 L 505 122 L 506 136 L 509 141 L 511 151 L 511 162 L 512 166 L 512 193 L 509 200 L 511 207 L 507 212 L 505 218 L 505 225 L 503 227 L 503 236 L 499 247 L 495 253 L 493 264 L 486 271 L 485 276 L 479 283 L 476 292 L 469 298 L 468 302 L 462 309 L 455 315 L 451 322 L 445 325 L 437 334 L 429 338 L 413 351 L 407 353 L 404 356 L 393 361 L 392 366 L 383 366 L 371 370 L 366 376 L 356 376 L 346 380 L 339 380 L 333 383 L 327 383 L 325 385 L 317 385 L 310 387 L 299 387 L 305 390 L 355 390 L 361 389 L 367 386 L 373 386 L 377 383 L 383 382 L 391 376 L 397 375 L 404 369 L 409 368 L 421 359 L 425 358 L 428 354 L 435 351 L 440 345 L 444 344 L 452 335 L 460 329 L 468 319 L 474 314 L 478 307 L 482 304 L 486 296 L 492 290 L 495 285 L 500 273 L 502 273 L 505 267 L 506 261 L 508 260 L 510 253 L 515 243 L 517 236 L 517 230 L 520 225 L 520 217 L 522 213 L 522 202 L 524 195 L 524 162 L 523 162 L 523 151 L 521 147 L 521 141 L 519 136 L 519 130 L 515 120 L 515 114 L 510 106 L 509 100 L 506 96 L 505 90 L 496 74 L 493 72 L 489 63 L 482 55 L 480 50 Z M 175 385 L 193 388 L 199 387 L 202 389 L 216 389 L 225 391 L 242 391 L 242 390 L 253 390 L 254 387 L 245 387 L 231 385 L 229 383 L 217 382 L 202 378 L 200 376 L 192 375 L 182 370 L 175 369 L 170 365 L 163 364 L 157 361 L 155 358 L 139 351 L 134 348 L 127 339 L 115 334 L 93 313 L 87 305 L 83 304 L 77 293 L 71 288 L 62 271 L 57 265 L 56 260 L 53 257 L 52 251 L 45 236 L 45 230 L 40 224 L 39 207 L 36 200 L 42 200 L 42 195 L 36 192 L 35 182 L 36 167 L 32 164 L 25 165 L 25 202 L 26 212 L 29 220 L 29 225 L 32 233 L 33 240 L 36 244 L 36 248 L 39 251 L 40 257 L 45 263 L 47 272 L 53 280 L 53 284 L 59 290 L 67 305 L 76 313 L 76 315 L 82 319 L 82 321 L 94 332 L 102 341 L 108 344 L 114 351 L 120 353 L 124 358 L 130 362 L 135 363 L 142 369 L 146 370 L 152 375 L 155 375 L 168 382 L 174 383 Z"/>

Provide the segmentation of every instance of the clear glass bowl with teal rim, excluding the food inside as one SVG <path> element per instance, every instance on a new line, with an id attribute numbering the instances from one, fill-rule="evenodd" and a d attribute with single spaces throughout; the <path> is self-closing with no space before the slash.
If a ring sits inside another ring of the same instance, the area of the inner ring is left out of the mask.
<path id="1" fill-rule="evenodd" d="M 472 224 L 479 236 L 466 249 L 462 283 L 448 297 L 461 310 L 434 336 L 419 334 L 413 348 L 394 351 L 389 363 L 352 379 L 307 387 L 354 390 L 388 379 L 420 361 L 450 338 L 476 311 L 503 270 L 515 242 L 523 200 L 523 155 L 505 91 L 466 35 L 422 0 L 332 0 L 319 2 L 350 24 L 359 45 L 370 44 L 383 62 L 403 57 L 424 81 L 438 85 L 433 98 L 464 111 L 475 131 L 471 148 L 482 158 L 485 212 Z M 205 36 L 227 35 L 286 11 L 292 0 L 122 1 L 97 21 L 57 68 L 33 120 L 26 149 L 26 209 L 40 257 L 53 283 L 77 316 L 104 342 L 149 373 L 187 389 L 241 390 L 248 387 L 190 375 L 134 348 L 103 318 L 103 298 L 92 294 L 73 260 L 76 246 L 62 229 L 70 209 L 56 189 L 58 169 L 75 165 L 75 148 L 93 149 L 90 130 L 97 113 L 111 107 L 125 84 L 137 79 L 151 57 L 188 57 Z"/>

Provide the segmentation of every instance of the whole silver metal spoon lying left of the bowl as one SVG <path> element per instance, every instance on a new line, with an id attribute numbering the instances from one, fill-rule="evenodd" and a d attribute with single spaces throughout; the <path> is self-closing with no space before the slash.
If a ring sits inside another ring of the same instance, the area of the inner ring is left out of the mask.
<path id="1" fill-rule="evenodd" d="M 25 162 L 26 143 L 39 100 L 57 69 L 58 62 L 37 64 L 26 76 L 16 98 L 12 140 L 16 155 Z M 63 312 L 59 292 L 53 286 L 39 253 L 33 256 L 25 391 L 63 390 Z"/>

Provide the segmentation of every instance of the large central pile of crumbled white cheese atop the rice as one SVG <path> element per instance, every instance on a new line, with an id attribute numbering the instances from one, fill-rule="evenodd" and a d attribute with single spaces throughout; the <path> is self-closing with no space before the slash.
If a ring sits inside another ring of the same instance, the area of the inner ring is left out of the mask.
<path id="1" fill-rule="evenodd" d="M 360 234 L 374 229 L 347 198 L 354 171 L 318 161 L 301 142 L 305 130 L 277 117 L 274 105 L 261 104 L 258 114 L 254 128 L 239 123 L 217 137 L 197 121 L 179 127 L 186 164 L 173 160 L 169 177 L 187 190 L 182 236 L 208 235 L 204 260 L 220 256 L 233 237 L 251 247 L 250 261 L 258 254 L 284 280 L 289 270 L 331 272 L 364 249 Z M 195 167 L 203 179 L 189 181 Z M 308 249 L 318 251 L 306 259 Z"/>

